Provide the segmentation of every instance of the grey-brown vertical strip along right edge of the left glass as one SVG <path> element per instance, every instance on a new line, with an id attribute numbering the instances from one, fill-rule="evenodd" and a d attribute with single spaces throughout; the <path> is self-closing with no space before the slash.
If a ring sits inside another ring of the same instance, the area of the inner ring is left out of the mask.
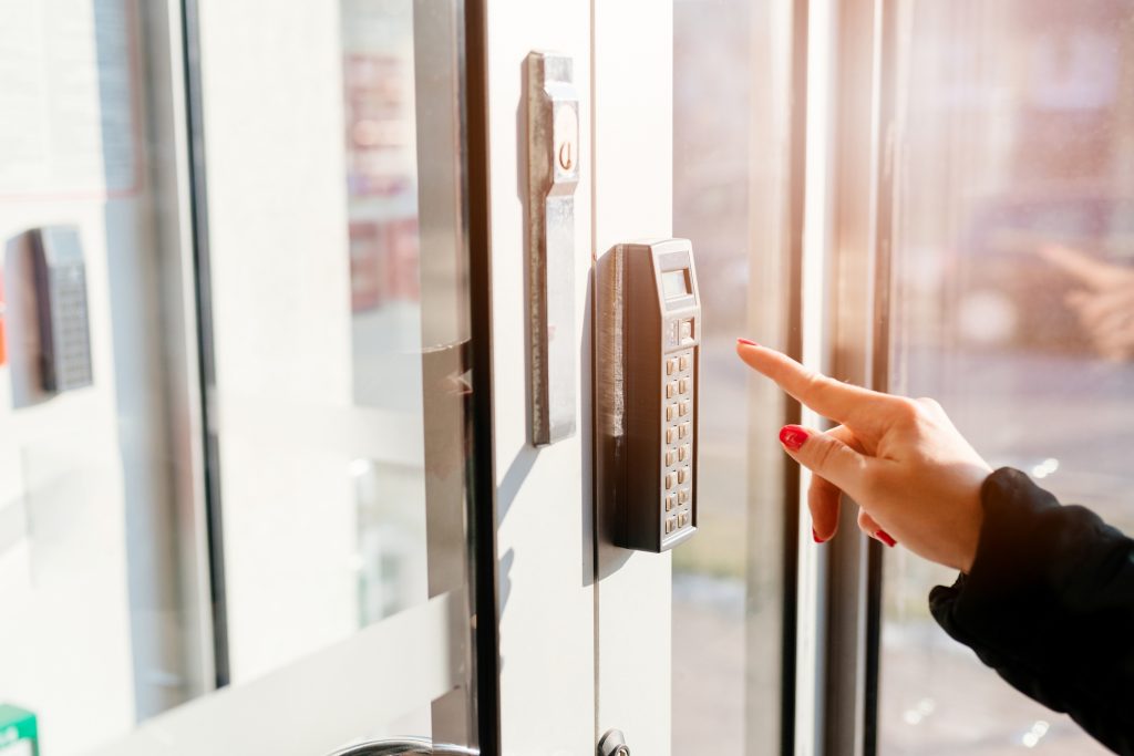
<path id="1" fill-rule="evenodd" d="M 466 528 L 473 512 L 465 464 L 472 418 L 455 385 L 468 369 L 468 214 L 465 210 L 464 28 L 460 0 L 413 6 L 414 127 L 417 147 L 425 537 L 429 595 L 452 593 L 448 652 L 459 686 L 431 704 L 435 742 L 469 744 L 475 731 L 472 681 L 472 580 Z M 454 439 L 462 442 L 454 443 Z"/>

